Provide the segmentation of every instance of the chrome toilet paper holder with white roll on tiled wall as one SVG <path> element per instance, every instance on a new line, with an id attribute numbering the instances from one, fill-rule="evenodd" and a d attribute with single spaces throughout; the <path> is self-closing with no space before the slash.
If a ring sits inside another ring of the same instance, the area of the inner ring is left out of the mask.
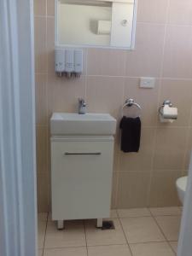
<path id="1" fill-rule="evenodd" d="M 166 100 L 163 102 L 163 104 L 159 108 L 159 115 L 160 115 L 160 122 L 172 123 L 173 120 L 177 119 L 177 108 L 173 108 L 172 102 L 170 100 Z"/>

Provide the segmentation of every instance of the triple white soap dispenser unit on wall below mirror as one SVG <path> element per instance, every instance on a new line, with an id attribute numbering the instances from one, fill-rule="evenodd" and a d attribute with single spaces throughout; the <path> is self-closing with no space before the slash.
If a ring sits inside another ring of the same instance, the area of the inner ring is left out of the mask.
<path id="1" fill-rule="evenodd" d="M 80 77 L 83 72 L 82 49 L 55 49 L 55 73 L 68 79 Z"/>

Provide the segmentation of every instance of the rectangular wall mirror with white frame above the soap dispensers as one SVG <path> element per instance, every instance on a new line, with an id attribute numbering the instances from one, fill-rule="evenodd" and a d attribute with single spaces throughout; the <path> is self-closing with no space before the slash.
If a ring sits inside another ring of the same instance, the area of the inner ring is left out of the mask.
<path id="1" fill-rule="evenodd" d="M 55 0 L 55 45 L 134 49 L 137 0 Z"/>

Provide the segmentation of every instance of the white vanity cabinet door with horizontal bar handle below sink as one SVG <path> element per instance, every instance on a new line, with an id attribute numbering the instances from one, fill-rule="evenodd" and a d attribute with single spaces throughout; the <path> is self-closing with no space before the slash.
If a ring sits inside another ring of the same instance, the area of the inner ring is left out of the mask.
<path id="1" fill-rule="evenodd" d="M 52 218 L 109 217 L 113 141 L 52 142 Z"/>

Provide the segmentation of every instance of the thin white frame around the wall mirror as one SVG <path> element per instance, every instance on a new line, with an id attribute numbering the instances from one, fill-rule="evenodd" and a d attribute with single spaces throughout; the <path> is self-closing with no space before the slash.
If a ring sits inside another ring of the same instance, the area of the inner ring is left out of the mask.
<path id="1" fill-rule="evenodd" d="M 55 0 L 55 47 L 56 48 L 94 48 L 94 49 L 126 49 L 134 50 L 136 42 L 136 27 L 137 27 L 137 0 L 96 0 L 96 1 L 105 1 L 105 2 L 116 2 L 116 3 L 130 3 L 134 2 L 133 10 L 133 20 L 132 20 L 132 32 L 131 32 L 131 46 L 130 47 L 115 47 L 115 46 L 105 46 L 105 45 L 93 45 L 93 44 L 59 44 L 58 43 L 58 26 L 57 26 L 57 9 L 59 0 Z"/>

